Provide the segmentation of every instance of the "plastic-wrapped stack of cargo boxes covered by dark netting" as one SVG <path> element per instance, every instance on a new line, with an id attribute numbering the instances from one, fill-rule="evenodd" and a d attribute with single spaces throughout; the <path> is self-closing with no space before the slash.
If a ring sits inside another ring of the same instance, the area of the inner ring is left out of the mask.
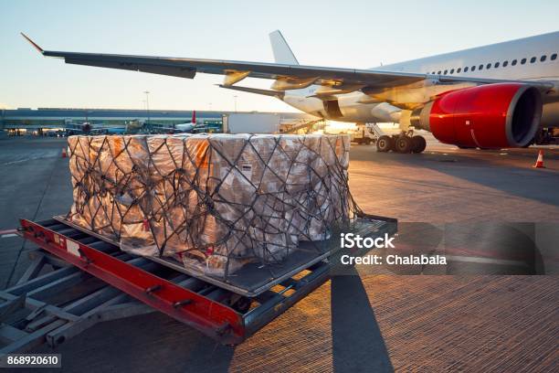
<path id="1" fill-rule="evenodd" d="M 322 134 L 71 136 L 67 218 L 121 250 L 227 278 L 353 221 L 349 145 Z"/>

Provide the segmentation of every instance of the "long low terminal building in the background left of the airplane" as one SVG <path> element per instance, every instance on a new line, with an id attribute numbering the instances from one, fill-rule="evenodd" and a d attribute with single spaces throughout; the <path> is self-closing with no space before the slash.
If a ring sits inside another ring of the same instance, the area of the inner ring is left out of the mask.
<path id="1" fill-rule="evenodd" d="M 232 112 L 198 112 L 197 123 L 220 126 L 223 115 Z M 297 122 L 309 118 L 304 113 L 275 112 L 285 122 Z M 61 109 L 61 108 L 19 108 L 0 110 L 0 130 L 11 134 L 44 134 L 80 129 L 84 123 L 92 128 L 125 127 L 131 123 L 150 123 L 159 127 L 173 127 L 174 124 L 190 123 L 192 111 L 174 110 L 125 110 L 125 109 Z"/>

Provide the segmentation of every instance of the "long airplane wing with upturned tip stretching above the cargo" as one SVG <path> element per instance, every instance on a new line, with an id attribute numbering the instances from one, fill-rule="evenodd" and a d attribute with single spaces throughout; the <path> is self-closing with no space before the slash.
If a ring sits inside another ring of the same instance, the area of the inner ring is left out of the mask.
<path id="1" fill-rule="evenodd" d="M 23 37 L 26 37 L 23 34 Z M 226 88 L 247 77 L 277 80 L 272 86 L 277 91 L 301 89 L 311 84 L 334 87 L 341 91 L 386 89 L 405 86 L 422 80 L 437 80 L 440 83 L 474 82 L 480 84 L 521 80 L 494 80 L 466 77 L 450 77 L 409 72 L 394 72 L 370 69 L 325 68 L 303 65 L 288 65 L 266 62 L 234 61 L 224 59 L 184 59 L 172 57 L 132 56 L 101 53 L 77 53 L 44 50 L 29 37 L 26 39 L 46 57 L 64 59 L 66 63 L 110 69 L 128 69 L 153 74 L 170 75 L 194 79 L 197 72 L 225 75 Z M 554 84 L 547 81 L 530 81 L 530 84 L 551 89 Z M 335 94 L 335 92 L 333 92 Z"/>

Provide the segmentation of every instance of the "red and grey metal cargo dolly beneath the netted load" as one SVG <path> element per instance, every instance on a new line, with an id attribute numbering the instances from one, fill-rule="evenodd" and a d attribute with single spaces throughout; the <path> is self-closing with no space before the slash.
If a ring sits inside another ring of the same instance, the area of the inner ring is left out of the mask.
<path id="1" fill-rule="evenodd" d="M 396 219 L 363 215 L 363 236 L 396 233 Z M 20 220 L 18 234 L 37 244 L 16 285 L 0 291 L 0 355 L 58 346 L 101 321 L 160 311 L 227 345 L 243 342 L 326 282 L 337 238 L 322 254 L 276 268 L 253 287 L 188 274 L 173 263 L 120 250 L 64 218 Z M 333 260 L 332 260 L 333 261 Z M 47 271 L 52 268 L 51 271 Z M 245 280 L 246 282 L 246 280 Z"/>

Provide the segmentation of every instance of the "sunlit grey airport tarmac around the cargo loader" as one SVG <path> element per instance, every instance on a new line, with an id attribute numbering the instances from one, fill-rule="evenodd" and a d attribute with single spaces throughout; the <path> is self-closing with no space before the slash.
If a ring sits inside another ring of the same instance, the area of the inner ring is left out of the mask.
<path id="1" fill-rule="evenodd" d="M 0 230 L 16 228 L 18 218 L 68 211 L 65 142 L 0 139 Z M 559 147 L 544 147 L 546 168 L 533 168 L 537 152 L 460 150 L 432 137 L 421 155 L 353 146 L 350 185 L 360 207 L 398 218 L 408 245 L 427 245 L 426 237 L 438 229 L 443 243 L 438 237 L 428 245 L 450 247 L 457 258 L 483 259 L 474 269 L 404 276 L 357 268 L 333 277 L 239 346 L 217 345 L 154 313 L 103 323 L 55 350 L 31 352 L 60 353 L 63 371 L 80 372 L 552 371 L 559 365 Z M 535 250 L 539 259 L 529 269 L 512 271 L 499 262 L 510 252 L 481 244 L 493 242 L 488 234 L 503 227 L 517 234 L 515 255 L 527 246 L 518 237 L 535 241 L 529 256 Z M 3 288 L 25 271 L 29 250 L 31 244 L 0 234 Z M 481 274 L 502 272 L 524 275 Z M 525 275 L 530 273 L 545 274 Z"/>

